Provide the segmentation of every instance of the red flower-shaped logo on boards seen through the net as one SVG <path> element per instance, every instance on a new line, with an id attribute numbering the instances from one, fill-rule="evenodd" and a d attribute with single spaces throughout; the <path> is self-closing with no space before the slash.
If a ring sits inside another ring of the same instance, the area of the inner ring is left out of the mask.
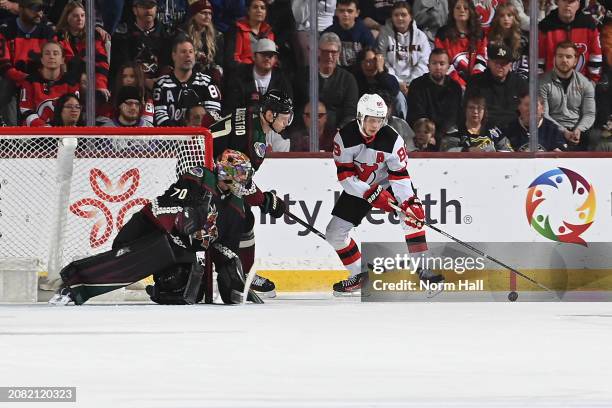
<path id="1" fill-rule="evenodd" d="M 125 215 L 137 205 L 146 205 L 146 198 L 130 199 L 140 184 L 138 169 L 130 169 L 123 173 L 116 184 L 100 169 L 93 168 L 89 172 L 89 185 L 98 198 L 83 198 L 70 205 L 70 211 L 81 218 L 95 219 L 89 233 L 89 244 L 92 248 L 104 245 L 113 234 L 123 227 Z M 105 202 L 121 203 L 128 200 L 117 214 L 113 223 L 113 214 Z"/>

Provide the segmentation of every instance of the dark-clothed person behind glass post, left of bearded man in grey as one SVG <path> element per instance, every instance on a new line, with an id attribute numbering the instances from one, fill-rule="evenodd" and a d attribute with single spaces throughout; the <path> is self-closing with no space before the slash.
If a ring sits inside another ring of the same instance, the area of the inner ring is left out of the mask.
<path id="1" fill-rule="evenodd" d="M 512 148 L 516 151 L 529 150 L 529 91 L 524 91 L 519 95 L 518 111 L 519 116 L 510 122 L 504 129 L 504 134 L 508 135 Z M 538 124 L 538 150 L 540 151 L 563 151 L 567 148 L 567 143 L 559 127 L 550 119 L 544 117 L 544 99 L 538 96 L 538 106 L 536 109 Z"/>

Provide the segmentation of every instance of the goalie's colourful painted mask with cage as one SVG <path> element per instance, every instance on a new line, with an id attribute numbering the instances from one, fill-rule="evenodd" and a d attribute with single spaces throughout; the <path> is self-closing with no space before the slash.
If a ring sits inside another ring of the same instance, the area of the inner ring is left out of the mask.
<path id="1" fill-rule="evenodd" d="M 226 149 L 215 163 L 217 178 L 224 182 L 237 197 L 248 193 L 248 186 L 253 178 L 251 161 L 242 152 Z"/>

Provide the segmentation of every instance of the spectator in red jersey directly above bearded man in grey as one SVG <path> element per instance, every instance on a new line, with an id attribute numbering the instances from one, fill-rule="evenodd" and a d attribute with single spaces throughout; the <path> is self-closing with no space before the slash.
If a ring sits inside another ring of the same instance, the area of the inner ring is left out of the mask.
<path id="1" fill-rule="evenodd" d="M 558 0 L 553 10 L 538 24 L 538 72 L 550 71 L 556 62 L 556 46 L 561 41 L 577 45 L 576 71 L 597 82 L 601 76 L 599 30 L 592 18 L 585 15 L 579 0 Z"/>

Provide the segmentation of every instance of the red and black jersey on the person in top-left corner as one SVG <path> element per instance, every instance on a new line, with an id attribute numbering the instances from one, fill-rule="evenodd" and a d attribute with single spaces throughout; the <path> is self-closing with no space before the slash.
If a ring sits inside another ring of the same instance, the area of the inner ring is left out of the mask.
<path id="1" fill-rule="evenodd" d="M 16 84 L 30 73 L 33 60 L 41 54 L 42 46 L 55 38 L 51 26 L 39 24 L 34 31 L 24 33 L 17 26 L 17 19 L 0 26 L 0 74 Z"/>

